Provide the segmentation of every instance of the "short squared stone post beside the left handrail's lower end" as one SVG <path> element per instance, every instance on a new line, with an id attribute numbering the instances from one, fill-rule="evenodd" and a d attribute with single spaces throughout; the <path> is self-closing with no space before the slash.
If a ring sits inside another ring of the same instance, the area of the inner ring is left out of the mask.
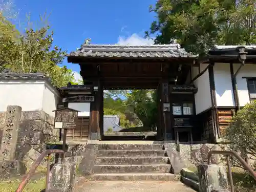
<path id="1" fill-rule="evenodd" d="M 76 163 L 55 163 L 50 171 L 48 189 L 61 192 L 74 190 Z"/>

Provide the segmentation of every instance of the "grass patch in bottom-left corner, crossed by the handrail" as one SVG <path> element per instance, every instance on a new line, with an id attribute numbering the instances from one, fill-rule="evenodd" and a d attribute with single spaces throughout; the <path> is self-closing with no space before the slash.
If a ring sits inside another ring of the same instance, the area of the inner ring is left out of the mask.
<path id="1" fill-rule="evenodd" d="M 13 192 L 17 189 L 20 180 L 9 180 L 0 181 L 0 191 L 1 192 Z M 41 178 L 35 181 L 29 181 L 23 192 L 40 192 L 45 189 L 46 179 Z"/>

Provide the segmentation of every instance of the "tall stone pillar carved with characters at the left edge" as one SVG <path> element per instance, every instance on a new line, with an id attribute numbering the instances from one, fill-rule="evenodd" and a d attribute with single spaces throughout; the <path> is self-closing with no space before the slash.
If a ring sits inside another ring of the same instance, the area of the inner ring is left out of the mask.
<path id="1" fill-rule="evenodd" d="M 20 106 L 7 106 L 6 118 L 0 148 L 0 162 L 14 160 L 19 131 L 19 121 L 22 115 Z"/>

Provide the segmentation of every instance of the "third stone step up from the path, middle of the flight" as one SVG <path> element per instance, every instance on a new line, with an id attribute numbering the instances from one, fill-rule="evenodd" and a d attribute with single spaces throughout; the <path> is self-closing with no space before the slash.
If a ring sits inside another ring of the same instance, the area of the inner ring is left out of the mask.
<path id="1" fill-rule="evenodd" d="M 168 157 L 98 157 L 97 165 L 168 164 Z"/>

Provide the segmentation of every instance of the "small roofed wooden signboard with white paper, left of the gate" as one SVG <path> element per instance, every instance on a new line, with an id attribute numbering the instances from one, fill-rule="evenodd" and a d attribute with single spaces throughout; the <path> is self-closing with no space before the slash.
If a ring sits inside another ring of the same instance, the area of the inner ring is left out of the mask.
<path id="1" fill-rule="evenodd" d="M 75 129 L 78 112 L 70 108 L 55 110 L 54 127 L 56 129 Z"/>

